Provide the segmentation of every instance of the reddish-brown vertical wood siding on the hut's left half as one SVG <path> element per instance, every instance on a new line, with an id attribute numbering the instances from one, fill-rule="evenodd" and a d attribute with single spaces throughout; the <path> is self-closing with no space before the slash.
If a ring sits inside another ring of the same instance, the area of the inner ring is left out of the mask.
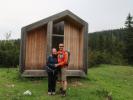
<path id="1" fill-rule="evenodd" d="M 27 33 L 25 69 L 43 69 L 46 64 L 47 27 Z"/>

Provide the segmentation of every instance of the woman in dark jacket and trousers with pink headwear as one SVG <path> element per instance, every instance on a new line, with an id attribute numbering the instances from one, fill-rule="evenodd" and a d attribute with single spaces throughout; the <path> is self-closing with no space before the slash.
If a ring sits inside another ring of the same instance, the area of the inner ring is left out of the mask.
<path id="1" fill-rule="evenodd" d="M 46 67 L 48 73 L 48 95 L 55 95 L 57 79 L 57 67 L 55 67 L 55 64 L 57 63 L 57 50 L 53 48 L 52 54 L 48 57 Z"/>

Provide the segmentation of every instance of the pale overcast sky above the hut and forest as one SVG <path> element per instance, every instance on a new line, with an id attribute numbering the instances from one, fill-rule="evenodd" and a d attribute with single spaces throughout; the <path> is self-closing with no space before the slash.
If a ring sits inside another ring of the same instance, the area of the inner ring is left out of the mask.
<path id="1" fill-rule="evenodd" d="M 0 0 L 0 40 L 18 39 L 21 28 L 64 10 L 89 24 L 89 32 L 123 28 L 133 0 Z"/>

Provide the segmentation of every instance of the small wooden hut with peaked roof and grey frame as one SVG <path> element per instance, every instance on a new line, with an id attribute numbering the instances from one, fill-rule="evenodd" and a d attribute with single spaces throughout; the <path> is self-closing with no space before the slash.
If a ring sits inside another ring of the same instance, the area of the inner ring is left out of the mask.
<path id="1" fill-rule="evenodd" d="M 72 12 L 61 13 L 40 20 L 21 30 L 20 72 L 25 77 L 47 76 L 47 56 L 59 43 L 70 51 L 68 76 L 87 74 L 88 24 Z"/>

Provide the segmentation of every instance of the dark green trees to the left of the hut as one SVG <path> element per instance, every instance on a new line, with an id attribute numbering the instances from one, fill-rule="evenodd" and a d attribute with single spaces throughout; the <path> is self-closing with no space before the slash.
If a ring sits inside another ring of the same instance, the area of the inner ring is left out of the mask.
<path id="1" fill-rule="evenodd" d="M 19 65 L 19 40 L 0 41 L 0 66 L 16 67 Z"/>

